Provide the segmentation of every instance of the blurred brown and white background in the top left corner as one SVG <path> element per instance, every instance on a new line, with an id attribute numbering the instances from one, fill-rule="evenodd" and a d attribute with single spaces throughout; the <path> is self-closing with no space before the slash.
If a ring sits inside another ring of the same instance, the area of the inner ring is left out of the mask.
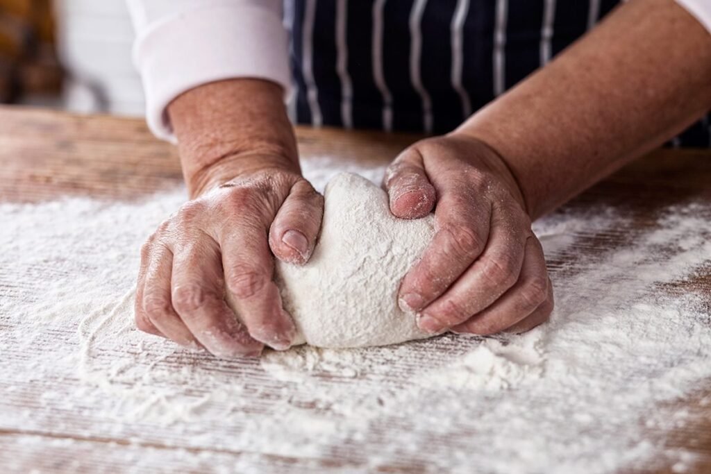
<path id="1" fill-rule="evenodd" d="M 0 0 L 0 103 L 144 113 L 125 0 Z"/>

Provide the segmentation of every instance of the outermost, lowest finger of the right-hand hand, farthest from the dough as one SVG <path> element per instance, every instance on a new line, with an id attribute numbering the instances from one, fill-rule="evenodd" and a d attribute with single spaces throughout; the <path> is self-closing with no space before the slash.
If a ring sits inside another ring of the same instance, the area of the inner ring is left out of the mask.
<path id="1" fill-rule="evenodd" d="M 550 298 L 550 305 L 545 305 Z M 537 311 L 540 308 L 540 312 Z M 547 313 L 546 313 L 546 310 Z M 518 281 L 491 306 L 476 313 L 468 321 L 456 325 L 458 333 L 491 335 L 521 324 L 537 323 L 552 310 L 552 291 L 545 269 L 545 258 L 538 239 L 530 237 L 525 245 L 525 257 Z M 528 318 L 533 318 L 524 323 Z M 541 321 L 542 322 L 542 321 Z"/>

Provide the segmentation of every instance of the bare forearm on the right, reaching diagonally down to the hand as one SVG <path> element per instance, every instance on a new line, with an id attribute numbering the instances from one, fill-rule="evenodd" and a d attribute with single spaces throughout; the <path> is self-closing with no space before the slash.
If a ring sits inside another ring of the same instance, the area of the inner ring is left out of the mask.
<path id="1" fill-rule="evenodd" d="M 457 132 L 508 163 L 538 217 L 711 108 L 711 35 L 672 0 L 636 0 Z"/>

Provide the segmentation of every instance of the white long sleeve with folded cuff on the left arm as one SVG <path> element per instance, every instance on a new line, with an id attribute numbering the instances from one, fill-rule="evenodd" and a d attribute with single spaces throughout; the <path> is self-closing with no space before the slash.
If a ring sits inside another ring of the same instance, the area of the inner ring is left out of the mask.
<path id="1" fill-rule="evenodd" d="M 174 141 L 166 107 L 193 87 L 235 77 L 272 80 L 289 90 L 282 0 L 127 0 L 137 33 L 134 61 L 146 120 Z"/>

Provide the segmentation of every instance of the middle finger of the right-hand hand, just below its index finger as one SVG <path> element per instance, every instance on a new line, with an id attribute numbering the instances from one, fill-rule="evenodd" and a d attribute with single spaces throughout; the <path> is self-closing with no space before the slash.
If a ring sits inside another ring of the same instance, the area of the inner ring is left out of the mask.
<path id="1" fill-rule="evenodd" d="M 494 209 L 483 254 L 447 293 L 422 311 L 420 328 L 439 333 L 463 323 L 498 300 L 518 281 L 525 254 L 525 233 L 516 221 L 513 212 Z M 545 263 L 542 275 L 545 276 Z"/>

